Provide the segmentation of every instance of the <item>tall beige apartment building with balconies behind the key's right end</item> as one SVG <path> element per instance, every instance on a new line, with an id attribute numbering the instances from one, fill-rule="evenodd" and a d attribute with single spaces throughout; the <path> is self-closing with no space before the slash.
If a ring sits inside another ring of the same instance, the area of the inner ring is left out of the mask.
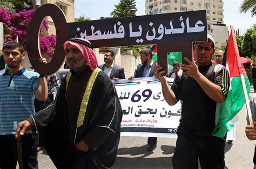
<path id="1" fill-rule="evenodd" d="M 223 0 L 145 0 L 146 15 L 206 10 L 207 32 L 216 39 L 216 46 L 225 46 L 228 29 L 224 24 Z M 219 31 L 225 31 L 221 32 Z"/>

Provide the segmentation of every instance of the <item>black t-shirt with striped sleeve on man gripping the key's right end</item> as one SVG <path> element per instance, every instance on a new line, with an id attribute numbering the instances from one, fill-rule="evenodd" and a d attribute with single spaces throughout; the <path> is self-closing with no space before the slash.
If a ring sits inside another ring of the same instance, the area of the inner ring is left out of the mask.
<path id="1" fill-rule="evenodd" d="M 214 67 L 215 64 L 211 64 L 198 68 L 199 72 L 206 76 L 208 80 L 221 87 L 226 97 L 230 84 L 228 72 L 221 65 L 218 65 L 216 72 L 214 72 Z M 212 136 L 217 103 L 206 95 L 196 80 L 188 75 L 182 75 L 181 79 L 177 75 L 171 89 L 177 100 L 181 101 L 182 111 L 178 128 L 201 137 Z"/>

